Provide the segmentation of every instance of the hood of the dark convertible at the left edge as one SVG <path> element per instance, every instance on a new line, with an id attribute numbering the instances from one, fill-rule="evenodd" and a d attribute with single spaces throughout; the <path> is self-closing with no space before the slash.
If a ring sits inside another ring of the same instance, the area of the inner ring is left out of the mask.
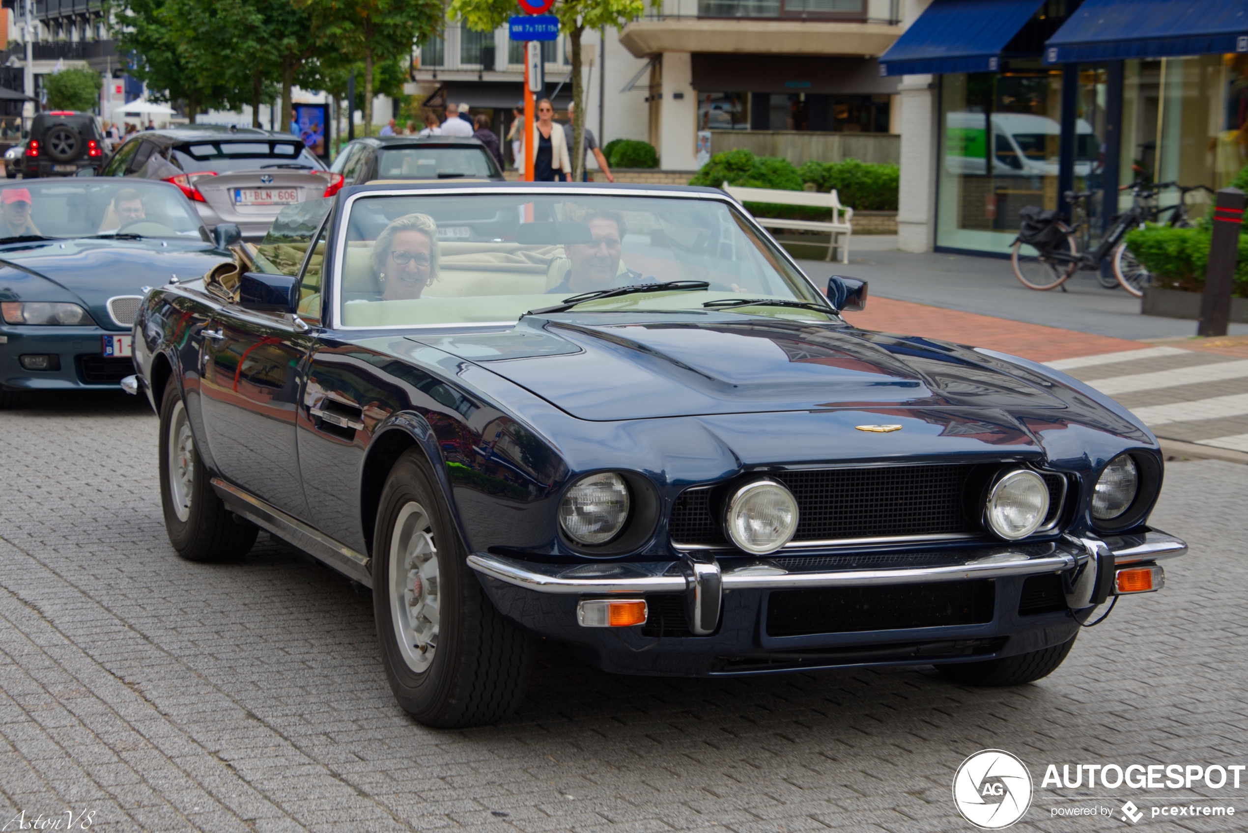
<path id="1" fill-rule="evenodd" d="M 62 248 L 64 244 L 64 248 Z M 5 301 L 67 301 L 87 308 L 105 329 L 130 329 L 114 323 L 107 301 L 142 296 L 173 276 L 203 276 L 230 256 L 210 243 L 185 241 L 82 241 L 0 247 L 0 298 Z"/>

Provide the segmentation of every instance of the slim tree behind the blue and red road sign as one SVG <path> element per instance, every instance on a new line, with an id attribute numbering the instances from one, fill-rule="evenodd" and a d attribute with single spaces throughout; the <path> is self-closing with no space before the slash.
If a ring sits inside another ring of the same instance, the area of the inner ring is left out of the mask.
<path id="1" fill-rule="evenodd" d="M 654 1 L 654 0 L 653 0 Z M 658 5 L 655 2 L 655 5 Z M 463 20 L 475 31 L 498 29 L 515 11 L 514 1 L 509 0 L 451 0 L 451 15 Z M 587 29 L 619 29 L 635 20 L 645 11 L 645 0 L 557 0 L 554 9 L 559 17 L 559 27 L 568 35 L 572 46 L 572 101 L 577 105 L 573 112 L 573 146 L 568 148 L 573 158 L 573 180 L 580 181 L 585 167 L 585 155 L 578 153 L 585 135 L 585 84 L 582 77 L 580 37 Z"/>

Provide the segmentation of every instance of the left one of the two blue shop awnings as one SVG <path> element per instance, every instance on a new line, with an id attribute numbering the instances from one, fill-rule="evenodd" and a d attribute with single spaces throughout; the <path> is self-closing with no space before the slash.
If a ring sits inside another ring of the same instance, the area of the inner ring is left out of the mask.
<path id="1" fill-rule="evenodd" d="M 932 0 L 880 56 L 880 75 L 996 72 L 1001 50 L 1043 0 Z"/>

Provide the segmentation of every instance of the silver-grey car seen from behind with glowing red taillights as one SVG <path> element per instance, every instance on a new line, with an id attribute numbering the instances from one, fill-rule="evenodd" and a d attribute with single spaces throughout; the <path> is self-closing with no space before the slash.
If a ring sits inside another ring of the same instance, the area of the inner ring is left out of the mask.
<path id="1" fill-rule="evenodd" d="M 136 133 L 102 176 L 172 182 L 210 229 L 233 223 L 250 241 L 261 239 L 283 207 L 342 186 L 296 136 L 207 125 Z"/>

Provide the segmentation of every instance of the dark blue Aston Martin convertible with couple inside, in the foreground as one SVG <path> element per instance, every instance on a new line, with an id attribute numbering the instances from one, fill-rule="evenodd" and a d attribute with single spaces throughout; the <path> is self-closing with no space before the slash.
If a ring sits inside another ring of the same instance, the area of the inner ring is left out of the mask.
<path id="1" fill-rule="evenodd" d="M 431 726 L 534 636 L 622 673 L 1038 680 L 1186 545 L 1162 455 L 1061 373 L 855 329 L 704 188 L 377 183 L 151 292 L 136 379 L 186 559 L 268 530 L 372 589 Z M 1117 599 L 1114 599 L 1117 601 Z"/>

